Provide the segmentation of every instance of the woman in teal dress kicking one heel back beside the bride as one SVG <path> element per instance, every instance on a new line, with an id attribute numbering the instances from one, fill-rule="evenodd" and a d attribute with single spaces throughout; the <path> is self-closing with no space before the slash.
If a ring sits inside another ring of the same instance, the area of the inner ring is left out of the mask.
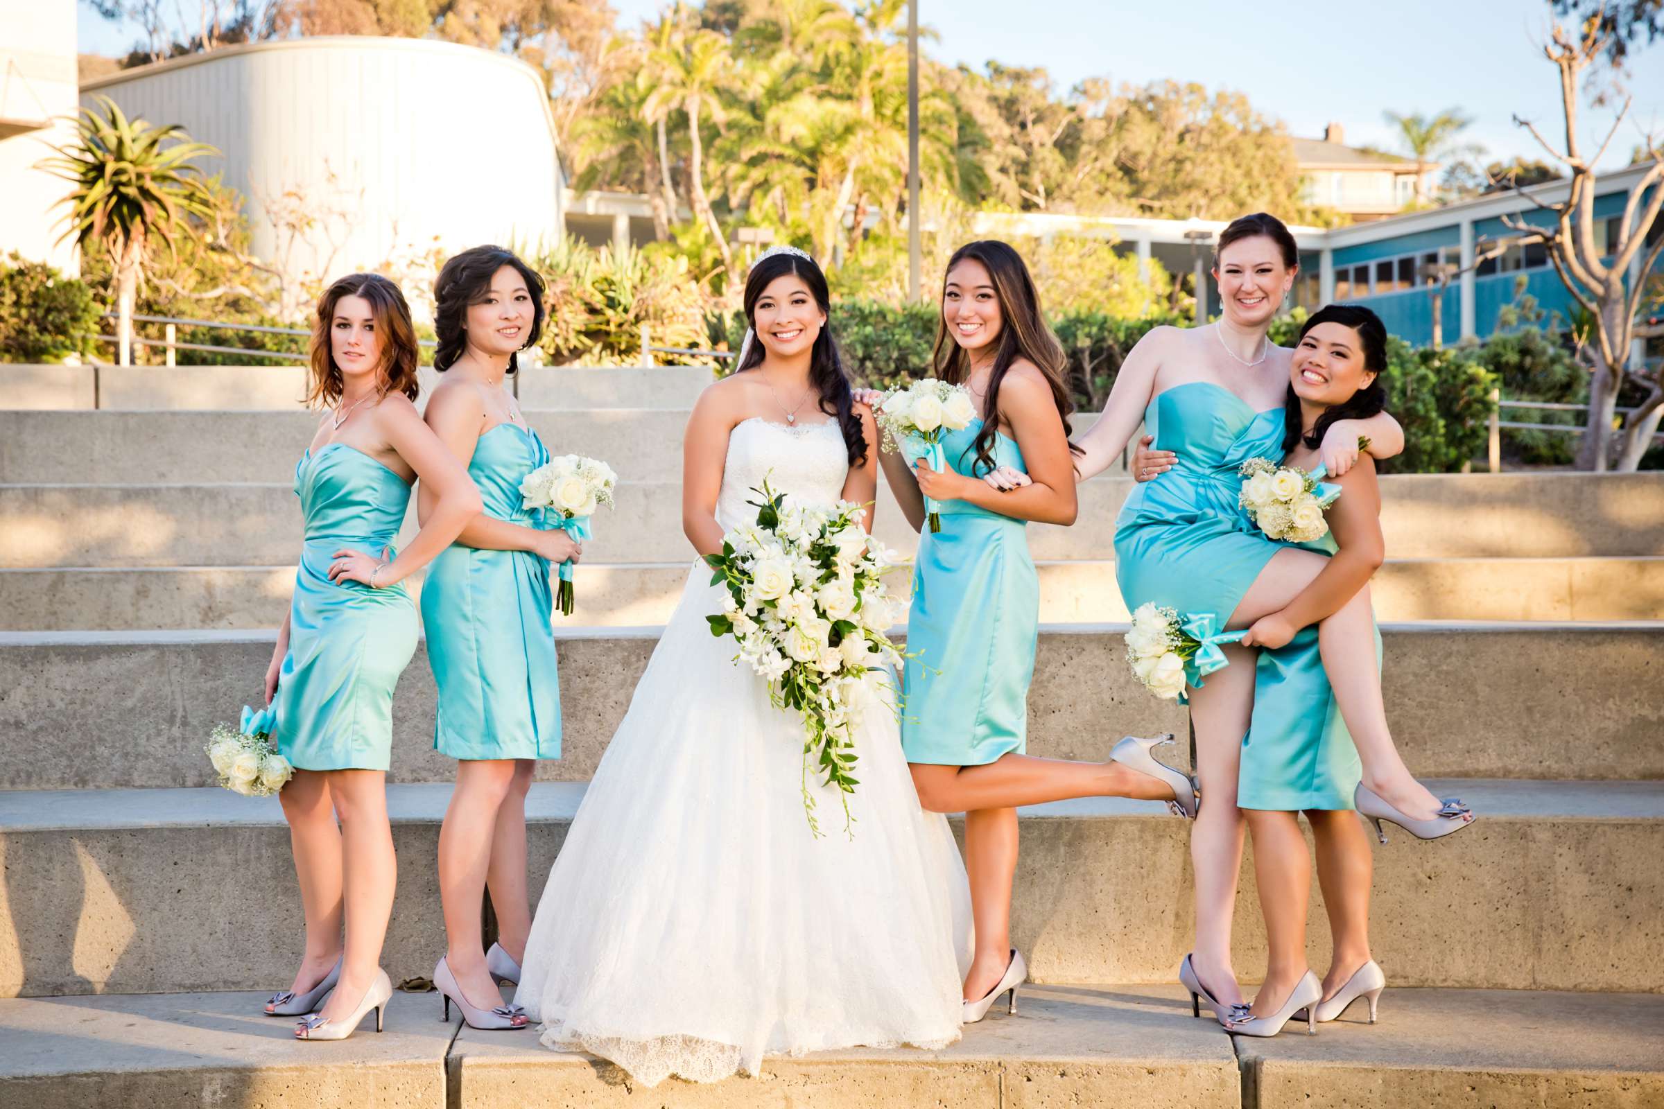
<path id="1" fill-rule="evenodd" d="M 1148 757 L 1170 737 L 1128 737 L 1117 747 L 1120 762 L 1023 753 L 1040 627 L 1025 525 L 1068 525 L 1077 510 L 1062 371 L 1063 351 L 1045 326 L 1022 256 L 995 239 L 968 243 L 947 264 L 932 372 L 968 387 L 982 416 L 945 432 L 947 471 L 882 456 L 890 489 L 920 532 L 902 748 L 920 805 L 965 813 L 977 931 L 963 981 L 965 1021 L 980 1021 L 1003 994 L 1015 1009 L 1017 986 L 1027 979 L 1023 956 L 1010 946 L 1018 805 L 1133 796 L 1195 808 L 1188 778 Z M 867 391 L 862 399 L 879 394 Z M 982 477 L 1002 466 L 1030 482 L 1017 492 L 992 489 Z M 925 495 L 940 505 L 940 532 L 922 527 Z"/>

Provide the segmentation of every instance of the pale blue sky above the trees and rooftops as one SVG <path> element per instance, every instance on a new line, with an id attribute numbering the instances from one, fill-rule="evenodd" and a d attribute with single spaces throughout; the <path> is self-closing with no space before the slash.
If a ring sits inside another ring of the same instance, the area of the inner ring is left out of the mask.
<path id="1" fill-rule="evenodd" d="M 82 50 L 115 53 L 133 35 L 80 7 Z M 622 27 L 664 0 L 612 0 Z M 1436 113 L 1459 106 L 1474 116 L 1464 133 L 1489 156 L 1538 156 L 1511 121 L 1539 121 L 1556 140 L 1559 91 L 1538 43 L 1544 0 L 920 0 L 920 22 L 937 33 L 925 52 L 980 67 L 988 58 L 1045 67 L 1060 90 L 1087 76 L 1113 81 L 1176 78 L 1248 95 L 1293 135 L 1321 136 L 1335 120 L 1351 145 L 1393 146 L 1383 110 Z M 1664 43 L 1639 53 L 1629 90 L 1631 116 L 1612 141 L 1622 165 L 1639 143 L 1636 125 L 1664 135 Z M 1611 111 L 1589 110 L 1584 141 Z"/>

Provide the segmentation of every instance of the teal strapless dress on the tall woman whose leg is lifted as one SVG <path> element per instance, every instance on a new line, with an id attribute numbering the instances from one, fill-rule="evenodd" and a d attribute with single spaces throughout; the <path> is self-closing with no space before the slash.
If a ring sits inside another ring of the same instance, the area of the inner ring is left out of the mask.
<path id="1" fill-rule="evenodd" d="M 1175 451 L 1178 461 L 1135 485 L 1115 520 L 1122 599 L 1128 612 L 1155 602 L 1225 627 L 1281 547 L 1236 497 L 1243 462 L 1283 457 L 1283 409 L 1258 412 L 1223 386 L 1191 381 L 1150 399 L 1145 429 L 1151 449 Z"/>

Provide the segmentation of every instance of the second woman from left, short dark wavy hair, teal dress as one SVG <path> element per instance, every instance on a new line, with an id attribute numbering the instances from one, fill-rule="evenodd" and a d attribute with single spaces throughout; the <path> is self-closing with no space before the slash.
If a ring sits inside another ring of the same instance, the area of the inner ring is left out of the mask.
<path id="1" fill-rule="evenodd" d="M 526 791 L 539 758 L 561 757 L 561 690 L 549 619 L 549 565 L 581 549 L 522 507 L 521 481 L 549 461 L 504 387 L 518 351 L 542 334 L 542 279 L 499 246 L 451 258 L 434 281 L 433 367 L 444 381 L 428 426 L 484 499 L 433 567 L 421 592 L 428 662 L 439 687 L 434 750 L 458 760 L 456 790 L 439 828 L 439 896 L 446 954 L 433 981 L 471 1028 L 524 1028 L 498 981 L 518 983 L 531 933 L 526 891 Z M 426 484 L 418 512 L 438 497 Z M 486 890 L 498 943 L 483 951 Z"/>

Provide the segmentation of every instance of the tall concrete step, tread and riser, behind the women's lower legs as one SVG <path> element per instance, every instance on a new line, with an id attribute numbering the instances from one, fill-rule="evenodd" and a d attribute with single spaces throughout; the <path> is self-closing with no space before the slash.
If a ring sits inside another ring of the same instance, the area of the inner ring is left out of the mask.
<path id="1" fill-rule="evenodd" d="M 1431 788 L 1466 798 L 1481 818 L 1433 843 L 1393 835 L 1376 851 L 1371 948 L 1396 984 L 1664 991 L 1664 871 L 1646 861 L 1664 853 L 1664 783 Z M 532 896 L 582 790 L 532 788 Z M 444 949 L 433 860 L 449 793 L 388 790 L 403 860 L 383 958 L 394 979 L 428 974 Z M 1095 798 L 1023 810 L 1022 840 L 1013 941 L 1037 981 L 1171 981 L 1193 933 L 1186 821 L 1153 801 Z M 300 958 L 300 895 L 276 798 L 0 793 L 0 996 L 258 989 L 281 984 Z M 1255 896 L 1248 866 L 1235 961 L 1250 979 L 1265 964 Z M 1315 890 L 1310 958 L 1323 966 L 1320 901 Z"/>

